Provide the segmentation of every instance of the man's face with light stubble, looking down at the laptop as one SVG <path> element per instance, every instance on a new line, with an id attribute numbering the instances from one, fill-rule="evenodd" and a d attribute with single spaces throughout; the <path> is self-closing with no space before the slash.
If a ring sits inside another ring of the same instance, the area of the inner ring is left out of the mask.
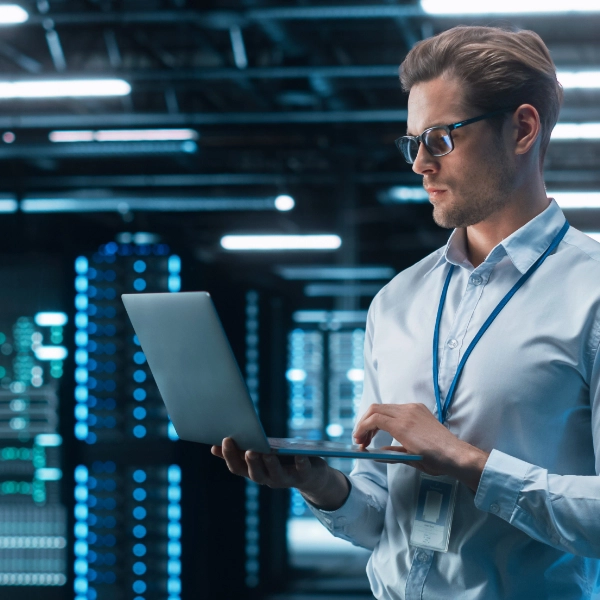
<path id="1" fill-rule="evenodd" d="M 411 89 L 407 133 L 419 135 L 428 127 L 450 125 L 481 112 L 466 106 L 458 81 L 440 77 Z M 506 136 L 488 121 L 455 129 L 451 135 L 454 150 L 446 156 L 431 156 L 421 144 L 413 171 L 423 176 L 435 222 L 446 228 L 468 227 L 506 205 L 514 189 L 514 162 Z"/>

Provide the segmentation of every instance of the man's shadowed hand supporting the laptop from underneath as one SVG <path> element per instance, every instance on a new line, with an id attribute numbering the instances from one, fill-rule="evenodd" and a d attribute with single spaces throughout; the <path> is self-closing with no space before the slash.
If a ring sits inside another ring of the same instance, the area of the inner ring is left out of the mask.
<path id="1" fill-rule="evenodd" d="M 297 488 L 309 502 L 324 510 L 338 509 L 350 491 L 346 477 L 315 456 L 294 456 L 282 464 L 275 454 L 240 450 L 231 438 L 225 438 L 222 446 L 213 446 L 211 453 L 224 459 L 235 475 L 270 488 Z"/>

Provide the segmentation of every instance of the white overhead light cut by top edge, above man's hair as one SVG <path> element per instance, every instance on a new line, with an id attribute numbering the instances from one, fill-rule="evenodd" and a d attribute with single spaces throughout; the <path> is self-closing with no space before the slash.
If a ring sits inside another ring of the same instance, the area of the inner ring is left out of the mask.
<path id="1" fill-rule="evenodd" d="M 600 12 L 597 0 L 421 0 L 421 8 L 432 15 L 505 15 Z"/>

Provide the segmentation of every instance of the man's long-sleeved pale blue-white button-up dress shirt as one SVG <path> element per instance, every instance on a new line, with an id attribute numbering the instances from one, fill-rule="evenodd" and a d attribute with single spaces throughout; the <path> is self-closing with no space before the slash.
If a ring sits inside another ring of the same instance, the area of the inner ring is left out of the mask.
<path id="1" fill-rule="evenodd" d="M 442 403 L 481 325 L 565 222 L 554 200 L 473 268 L 465 232 L 375 297 L 365 336 L 364 395 L 425 404 L 436 312 Z M 311 510 L 333 535 L 373 550 L 385 600 L 600 599 L 600 244 L 570 227 L 469 357 L 445 425 L 491 452 L 477 493 L 459 483 L 447 553 L 411 546 L 419 471 L 356 461 L 336 511 Z M 372 447 L 397 444 L 379 432 Z"/>

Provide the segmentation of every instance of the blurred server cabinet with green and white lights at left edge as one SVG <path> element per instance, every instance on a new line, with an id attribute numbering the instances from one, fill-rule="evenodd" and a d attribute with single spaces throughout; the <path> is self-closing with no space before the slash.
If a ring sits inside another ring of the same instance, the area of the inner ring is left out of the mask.
<path id="1" fill-rule="evenodd" d="M 59 598 L 68 577 L 60 269 L 4 261 L 0 281 L 0 597 Z M 33 263 L 33 264 L 32 264 Z"/>

